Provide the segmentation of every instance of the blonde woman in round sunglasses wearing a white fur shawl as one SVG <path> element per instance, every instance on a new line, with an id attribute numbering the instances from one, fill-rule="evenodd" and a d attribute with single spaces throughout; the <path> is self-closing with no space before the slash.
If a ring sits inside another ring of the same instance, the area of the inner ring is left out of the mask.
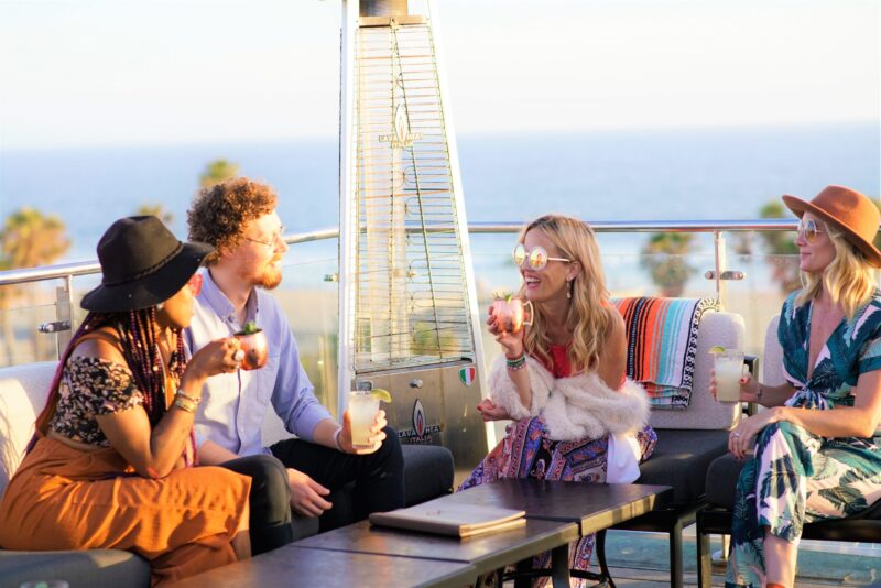
<path id="1" fill-rule="evenodd" d="M 532 325 L 511 333 L 490 314 L 503 357 L 478 406 L 485 421 L 514 423 L 460 489 L 498 478 L 633 481 L 656 436 L 645 391 L 624 378 L 624 322 L 609 303 L 594 231 L 576 218 L 540 217 L 520 233 L 514 262 Z M 570 568 L 587 570 L 592 549 L 592 535 L 573 545 Z M 536 567 L 546 565 L 545 554 Z"/>

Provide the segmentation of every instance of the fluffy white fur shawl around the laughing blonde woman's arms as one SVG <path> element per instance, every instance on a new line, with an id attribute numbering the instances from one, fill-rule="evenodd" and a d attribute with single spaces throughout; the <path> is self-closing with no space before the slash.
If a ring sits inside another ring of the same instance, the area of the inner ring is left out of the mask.
<path id="1" fill-rule="evenodd" d="M 555 379 L 540 361 L 529 356 L 526 369 L 532 384 L 529 411 L 508 377 L 503 356 L 493 362 L 489 375 L 492 402 L 504 406 L 516 420 L 535 416 L 544 409 L 547 433 L 553 440 L 634 433 L 649 422 L 649 396 L 632 380 L 627 380 L 620 390 L 612 390 L 595 372 Z"/>

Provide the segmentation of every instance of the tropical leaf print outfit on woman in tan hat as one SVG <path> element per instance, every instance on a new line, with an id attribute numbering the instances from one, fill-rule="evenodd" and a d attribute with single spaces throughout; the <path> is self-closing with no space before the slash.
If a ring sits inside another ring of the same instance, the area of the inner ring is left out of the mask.
<path id="1" fill-rule="evenodd" d="M 881 369 L 881 292 L 851 320 L 841 319 L 809 378 L 813 303 L 795 306 L 797 294 L 783 303 L 777 329 L 784 375 L 797 390 L 786 405 L 852 406 L 860 374 Z M 785 421 L 769 425 L 738 480 L 726 586 L 762 586 L 763 527 L 797 544 L 805 523 L 856 514 L 879 498 L 881 436 L 825 438 Z"/>

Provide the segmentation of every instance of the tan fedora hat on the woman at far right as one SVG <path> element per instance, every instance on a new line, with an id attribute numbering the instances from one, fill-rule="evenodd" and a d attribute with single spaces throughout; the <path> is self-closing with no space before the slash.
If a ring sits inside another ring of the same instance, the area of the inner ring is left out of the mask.
<path id="1" fill-rule="evenodd" d="M 868 196 L 845 186 L 826 186 L 811 202 L 787 194 L 783 203 L 798 218 L 813 213 L 831 222 L 845 231 L 847 240 L 862 251 L 870 264 L 881 268 L 881 251 L 872 244 L 881 213 Z"/>

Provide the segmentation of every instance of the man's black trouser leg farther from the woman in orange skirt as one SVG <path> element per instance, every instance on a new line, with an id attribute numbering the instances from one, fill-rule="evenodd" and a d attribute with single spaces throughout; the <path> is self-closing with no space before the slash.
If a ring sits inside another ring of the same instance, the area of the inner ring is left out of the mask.
<path id="1" fill-rule="evenodd" d="M 404 505 L 401 442 L 392 427 L 383 431 L 385 440 L 369 455 L 344 454 L 302 439 L 284 439 L 270 447 L 286 467 L 302 471 L 331 492 L 355 482 L 351 515 L 331 508 L 319 519 L 322 531 L 360 521 L 371 512 L 391 511 Z"/>

